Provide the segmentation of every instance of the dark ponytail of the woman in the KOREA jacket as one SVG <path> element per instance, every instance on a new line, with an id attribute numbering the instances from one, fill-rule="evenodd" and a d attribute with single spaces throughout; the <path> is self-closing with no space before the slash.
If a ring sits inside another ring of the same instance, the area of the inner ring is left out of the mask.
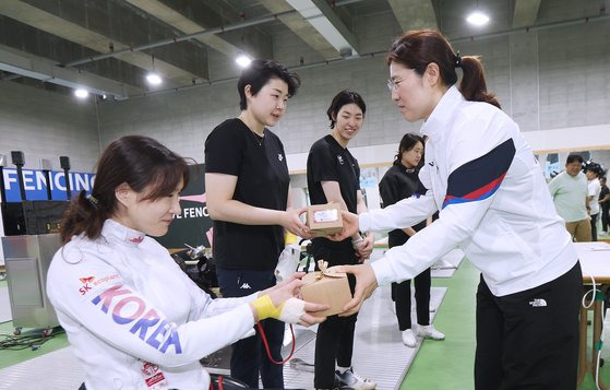
<path id="1" fill-rule="evenodd" d="M 104 221 L 107 218 L 108 214 L 99 201 L 93 196 L 85 194 L 84 190 L 81 191 L 72 199 L 61 223 L 61 244 L 67 244 L 72 236 L 82 233 L 91 239 L 99 237 Z"/>

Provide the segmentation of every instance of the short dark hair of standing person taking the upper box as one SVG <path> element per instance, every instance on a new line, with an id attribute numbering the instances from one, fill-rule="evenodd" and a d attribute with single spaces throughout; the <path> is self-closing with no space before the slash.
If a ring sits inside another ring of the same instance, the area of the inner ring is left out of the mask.
<path id="1" fill-rule="evenodd" d="M 252 95 L 256 95 L 271 79 L 279 79 L 288 84 L 288 97 L 295 96 L 297 90 L 301 86 L 301 79 L 298 74 L 289 72 L 282 63 L 274 60 L 252 60 L 250 66 L 241 71 L 237 82 L 239 108 L 241 110 L 248 108 L 248 101 L 243 91 L 246 85 L 250 85 L 250 92 Z"/>

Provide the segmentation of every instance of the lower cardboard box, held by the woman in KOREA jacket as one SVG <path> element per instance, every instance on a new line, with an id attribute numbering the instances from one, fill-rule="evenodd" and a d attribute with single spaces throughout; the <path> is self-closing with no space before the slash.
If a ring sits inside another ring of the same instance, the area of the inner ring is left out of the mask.
<path id="1" fill-rule="evenodd" d="M 351 300 L 351 291 L 345 273 L 323 274 L 321 271 L 303 276 L 306 285 L 301 286 L 301 296 L 307 302 L 331 306 L 324 311 L 312 314 L 326 317 L 343 312 L 344 306 Z"/>

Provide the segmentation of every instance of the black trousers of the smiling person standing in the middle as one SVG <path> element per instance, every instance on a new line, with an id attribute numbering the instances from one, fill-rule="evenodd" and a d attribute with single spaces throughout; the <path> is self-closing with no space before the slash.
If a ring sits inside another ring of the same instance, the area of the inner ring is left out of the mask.
<path id="1" fill-rule="evenodd" d="M 313 241 L 314 259 L 326 260 L 330 265 L 357 264 L 358 258 L 351 243 L 331 247 Z M 316 264 L 318 268 L 318 264 Z M 354 293 L 356 280 L 348 275 L 349 287 Z M 349 317 L 330 316 L 318 326 L 315 338 L 315 361 L 313 386 L 330 389 L 335 380 L 335 362 L 339 367 L 350 367 L 354 353 L 354 332 L 358 314 Z"/>

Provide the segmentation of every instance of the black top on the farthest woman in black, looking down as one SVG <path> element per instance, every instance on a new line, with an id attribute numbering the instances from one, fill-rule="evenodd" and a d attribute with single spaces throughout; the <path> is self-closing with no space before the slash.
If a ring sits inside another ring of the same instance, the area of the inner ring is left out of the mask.
<path id="1" fill-rule="evenodd" d="M 395 163 L 381 179 L 379 184 L 379 192 L 383 206 L 386 208 L 403 199 L 411 196 L 423 196 L 427 192 L 426 187 L 418 177 L 418 169 L 407 169 L 400 163 Z M 416 232 L 426 227 L 426 221 L 412 226 Z M 403 245 L 409 236 L 402 229 L 394 229 L 387 234 L 387 244 L 390 248 Z"/>

